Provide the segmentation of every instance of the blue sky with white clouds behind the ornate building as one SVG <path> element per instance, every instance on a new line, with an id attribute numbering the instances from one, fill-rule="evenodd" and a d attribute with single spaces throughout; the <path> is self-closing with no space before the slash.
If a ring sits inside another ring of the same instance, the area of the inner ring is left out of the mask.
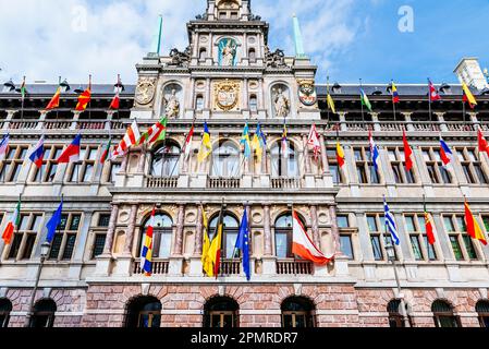
<path id="1" fill-rule="evenodd" d="M 205 0 L 0 0 L 0 79 L 15 82 L 134 83 L 163 15 L 163 49 L 184 49 L 185 23 Z M 8 4 L 7 4 L 8 3 Z M 294 53 L 292 20 L 301 20 L 318 81 L 354 83 L 455 82 L 459 60 L 489 65 L 487 0 L 253 0 L 270 23 L 270 47 Z M 413 15 L 411 15 L 411 13 Z"/>

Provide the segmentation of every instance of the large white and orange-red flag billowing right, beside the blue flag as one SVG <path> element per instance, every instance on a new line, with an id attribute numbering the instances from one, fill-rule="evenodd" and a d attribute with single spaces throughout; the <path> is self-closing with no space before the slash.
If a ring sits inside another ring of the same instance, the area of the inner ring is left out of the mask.
<path id="1" fill-rule="evenodd" d="M 325 254 L 322 254 L 322 252 L 314 244 L 295 210 L 292 210 L 292 253 L 318 265 L 328 264 L 333 256 L 325 256 Z"/>

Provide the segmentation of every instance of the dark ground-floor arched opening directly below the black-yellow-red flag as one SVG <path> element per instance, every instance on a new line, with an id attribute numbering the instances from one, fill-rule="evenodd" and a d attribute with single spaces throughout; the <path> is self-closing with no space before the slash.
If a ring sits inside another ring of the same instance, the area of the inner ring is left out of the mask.
<path id="1" fill-rule="evenodd" d="M 229 297 L 213 297 L 204 305 L 204 327 L 239 327 L 240 305 Z"/>

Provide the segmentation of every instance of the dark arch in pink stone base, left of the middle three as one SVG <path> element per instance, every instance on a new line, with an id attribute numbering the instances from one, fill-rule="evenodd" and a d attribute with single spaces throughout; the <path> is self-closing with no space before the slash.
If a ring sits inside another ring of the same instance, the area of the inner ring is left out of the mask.
<path id="1" fill-rule="evenodd" d="M 155 297 L 138 297 L 127 304 L 125 327 L 157 328 L 161 323 L 161 302 Z"/>

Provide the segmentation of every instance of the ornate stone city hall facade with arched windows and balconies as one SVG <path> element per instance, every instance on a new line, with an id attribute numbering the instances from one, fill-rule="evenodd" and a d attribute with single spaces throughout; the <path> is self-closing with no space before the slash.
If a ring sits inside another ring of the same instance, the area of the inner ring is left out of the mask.
<path id="1" fill-rule="evenodd" d="M 60 106 L 50 111 L 58 86 L 27 84 L 24 100 L 20 84 L 1 86 L 1 135 L 10 135 L 0 161 L 1 231 L 21 196 L 13 239 L 0 241 L 1 326 L 488 326 L 489 246 L 467 234 L 464 216 L 466 198 L 487 237 L 489 158 L 477 131 L 489 132 L 489 86 L 477 60 L 456 69 L 477 98 L 474 109 L 463 111 L 462 86 L 448 84 L 436 84 L 441 100 L 430 107 L 428 85 L 419 82 L 398 86 L 394 113 L 392 85 L 366 83 L 370 111 L 359 85 L 316 82 L 318 67 L 302 52 L 294 24 L 297 55 L 288 57 L 269 48 L 269 26 L 250 1 L 208 0 L 206 13 L 187 23 L 186 49 L 148 53 L 136 65 L 136 84 L 115 87 L 117 110 L 109 108 L 110 84 L 94 84 L 82 112 L 80 83 L 61 84 Z M 143 133 L 161 116 L 164 141 L 99 160 L 109 136 L 117 145 L 133 120 Z M 205 122 L 211 154 L 199 161 Z M 243 128 L 253 136 L 258 122 L 267 144 L 261 156 L 246 158 Z M 307 145 L 313 124 L 316 154 Z M 413 148 L 408 171 L 403 130 Z M 80 161 L 58 164 L 78 133 Z M 38 168 L 28 155 L 41 134 Z M 443 167 L 440 135 L 453 152 L 451 169 Z M 61 224 L 30 312 L 46 225 L 61 197 Z M 393 258 L 383 197 L 400 239 Z M 203 216 L 212 238 L 221 207 L 222 262 L 219 276 L 207 277 Z M 151 276 L 145 276 L 140 251 L 154 208 Z M 244 210 L 249 281 L 234 254 Z M 293 210 L 310 241 L 334 255 L 327 265 L 294 257 Z"/>

